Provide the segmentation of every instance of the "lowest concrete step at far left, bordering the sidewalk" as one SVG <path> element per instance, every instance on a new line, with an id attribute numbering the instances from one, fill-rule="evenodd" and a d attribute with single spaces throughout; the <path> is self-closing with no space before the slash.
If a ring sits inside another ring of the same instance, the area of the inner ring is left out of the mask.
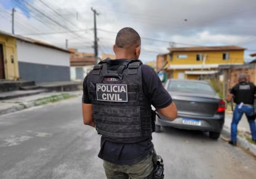
<path id="1" fill-rule="evenodd" d="M 18 90 L 18 91 L 9 91 L 9 92 L 0 92 L 0 100 L 20 98 L 23 96 L 36 95 L 42 92 L 47 92 L 48 90 L 39 89 L 39 90 Z"/>

